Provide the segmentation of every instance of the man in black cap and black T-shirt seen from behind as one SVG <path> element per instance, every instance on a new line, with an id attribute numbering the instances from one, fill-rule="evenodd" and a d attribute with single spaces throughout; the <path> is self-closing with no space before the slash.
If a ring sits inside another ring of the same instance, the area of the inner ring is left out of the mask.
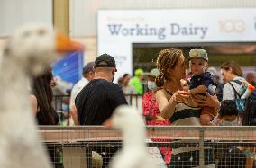
<path id="1" fill-rule="evenodd" d="M 112 83 L 117 71 L 114 57 L 103 54 L 96 57 L 95 78 L 85 86 L 76 98 L 80 125 L 101 125 L 114 109 L 127 104 L 122 89 Z"/>

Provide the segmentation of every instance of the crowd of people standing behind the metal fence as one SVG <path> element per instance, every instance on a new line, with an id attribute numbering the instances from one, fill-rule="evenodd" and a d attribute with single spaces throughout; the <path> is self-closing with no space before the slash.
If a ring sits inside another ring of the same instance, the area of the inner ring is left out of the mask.
<path id="1" fill-rule="evenodd" d="M 163 49 L 150 73 L 139 68 L 132 79 L 132 75 L 124 74 L 118 84 L 114 84 L 117 71 L 114 57 L 108 54 L 96 57 L 95 62 L 84 67 L 84 77 L 71 91 L 70 111 L 74 123 L 102 125 L 116 107 L 128 104 L 125 95 L 140 94 L 147 125 L 246 125 L 236 100 L 248 93 L 248 88 L 252 88 L 250 93 L 255 91 L 255 74 L 249 73 L 245 79 L 241 67 L 234 61 L 227 61 L 220 66 L 220 76 L 214 67 L 209 67 L 210 57 L 205 49 L 191 49 L 188 57 L 190 74 L 187 75 L 185 59 L 181 49 Z M 147 79 L 146 93 L 143 93 L 142 76 Z M 30 100 L 40 125 L 58 124 L 58 115 L 51 106 L 51 81 L 49 71 L 32 80 Z M 178 159 L 177 155 L 171 154 L 172 150 L 176 150 L 175 154 L 184 153 L 179 149 L 160 148 L 165 163 L 182 163 L 170 162 L 170 159 Z M 186 152 L 195 157 L 198 155 L 198 151 L 189 148 Z"/>

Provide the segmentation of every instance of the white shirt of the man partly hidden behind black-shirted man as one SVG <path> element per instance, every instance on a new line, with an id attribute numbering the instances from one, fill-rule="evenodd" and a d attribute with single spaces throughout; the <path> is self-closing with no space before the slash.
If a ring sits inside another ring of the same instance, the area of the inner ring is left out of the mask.
<path id="1" fill-rule="evenodd" d="M 77 84 L 74 85 L 74 87 L 72 88 L 71 91 L 71 97 L 70 97 L 70 108 L 72 108 L 73 105 L 75 105 L 75 99 L 78 95 L 78 93 L 80 93 L 80 91 L 85 87 L 85 85 L 87 85 L 89 83 L 89 81 L 87 80 L 87 78 L 82 77 L 82 79 L 80 79 L 78 81 Z"/>

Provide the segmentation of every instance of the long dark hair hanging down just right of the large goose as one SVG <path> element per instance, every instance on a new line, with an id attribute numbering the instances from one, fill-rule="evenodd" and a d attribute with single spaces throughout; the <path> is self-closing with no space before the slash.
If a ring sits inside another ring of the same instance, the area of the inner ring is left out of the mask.
<path id="1" fill-rule="evenodd" d="M 42 122 L 48 123 L 48 125 L 56 124 L 53 116 L 55 111 L 51 106 L 53 93 L 50 81 L 52 78 L 51 70 L 47 70 L 43 75 L 32 79 L 32 93 L 36 96 L 37 104 L 41 111 L 41 119 L 43 119 Z"/>

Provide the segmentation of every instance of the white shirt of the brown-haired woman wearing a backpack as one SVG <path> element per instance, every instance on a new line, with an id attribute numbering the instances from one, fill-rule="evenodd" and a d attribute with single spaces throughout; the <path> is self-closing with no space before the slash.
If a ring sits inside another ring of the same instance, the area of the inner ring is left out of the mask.
<path id="1" fill-rule="evenodd" d="M 239 80 L 239 81 L 245 81 L 245 79 L 243 77 L 237 76 L 235 77 L 233 80 Z M 236 84 L 235 82 L 232 82 L 233 87 L 235 88 L 235 90 L 238 92 L 240 89 L 240 84 Z M 233 91 L 233 87 L 231 86 L 231 84 L 224 84 L 224 91 L 223 91 L 223 101 L 224 100 L 234 100 L 235 99 L 235 95 L 234 95 L 234 91 Z"/>

